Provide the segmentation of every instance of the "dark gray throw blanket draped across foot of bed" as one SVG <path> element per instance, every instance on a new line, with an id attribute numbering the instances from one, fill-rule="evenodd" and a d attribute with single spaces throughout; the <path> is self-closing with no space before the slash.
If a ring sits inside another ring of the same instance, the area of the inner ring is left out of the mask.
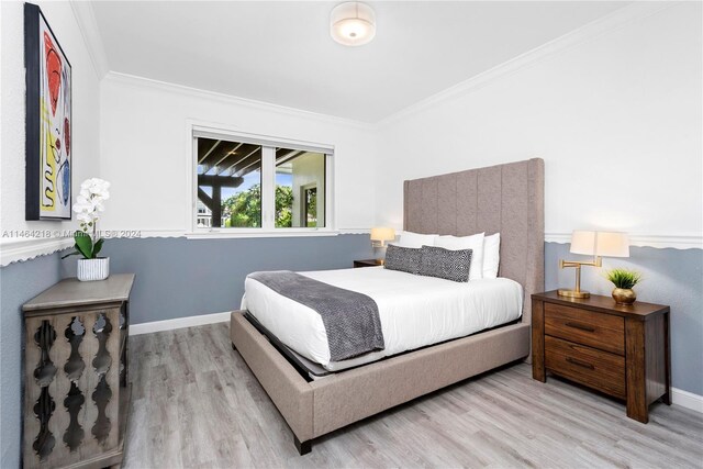
<path id="1" fill-rule="evenodd" d="M 254 272 L 248 277 L 316 311 L 327 332 L 333 361 L 386 348 L 378 305 L 366 294 L 289 270 Z"/>

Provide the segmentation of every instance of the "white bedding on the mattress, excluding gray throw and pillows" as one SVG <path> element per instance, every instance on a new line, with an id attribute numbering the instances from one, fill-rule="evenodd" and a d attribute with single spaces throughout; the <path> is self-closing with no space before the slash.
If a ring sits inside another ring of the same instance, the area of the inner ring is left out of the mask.
<path id="1" fill-rule="evenodd" d="M 505 324 L 523 310 L 522 286 L 506 278 L 459 283 L 382 267 L 299 273 L 367 294 L 378 304 L 386 349 L 330 361 L 320 314 L 247 277 L 242 310 L 248 310 L 283 344 L 331 371 Z"/>

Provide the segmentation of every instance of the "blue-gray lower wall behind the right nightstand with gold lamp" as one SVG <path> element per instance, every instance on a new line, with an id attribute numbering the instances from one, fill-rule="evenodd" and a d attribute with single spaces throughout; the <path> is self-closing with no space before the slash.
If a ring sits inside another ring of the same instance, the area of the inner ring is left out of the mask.
<path id="1" fill-rule="evenodd" d="M 610 295 L 613 286 L 603 272 L 613 267 L 635 269 L 644 280 L 638 301 L 671 306 L 671 381 L 674 388 L 703 394 L 703 249 L 631 247 L 629 257 L 603 258 L 603 268 L 581 269 L 581 288 Z M 569 254 L 568 244 L 545 244 L 545 287 L 572 288 L 573 269 L 559 269 L 559 259 L 584 259 Z"/>

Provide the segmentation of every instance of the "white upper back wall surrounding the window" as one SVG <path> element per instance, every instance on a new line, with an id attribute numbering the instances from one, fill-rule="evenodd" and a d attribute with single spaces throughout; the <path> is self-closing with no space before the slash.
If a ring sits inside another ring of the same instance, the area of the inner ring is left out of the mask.
<path id="1" fill-rule="evenodd" d="M 376 141 L 369 126 L 110 74 L 101 87 L 101 170 L 112 183 L 103 228 L 142 230 L 143 236 L 190 228 L 188 120 L 333 144 L 337 227 L 372 224 Z"/>

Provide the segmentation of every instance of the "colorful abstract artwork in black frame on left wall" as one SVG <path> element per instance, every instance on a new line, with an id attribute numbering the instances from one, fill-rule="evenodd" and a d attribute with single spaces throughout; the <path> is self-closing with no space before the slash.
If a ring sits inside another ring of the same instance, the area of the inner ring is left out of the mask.
<path id="1" fill-rule="evenodd" d="M 44 14 L 24 4 L 26 220 L 71 217 L 71 68 Z"/>

